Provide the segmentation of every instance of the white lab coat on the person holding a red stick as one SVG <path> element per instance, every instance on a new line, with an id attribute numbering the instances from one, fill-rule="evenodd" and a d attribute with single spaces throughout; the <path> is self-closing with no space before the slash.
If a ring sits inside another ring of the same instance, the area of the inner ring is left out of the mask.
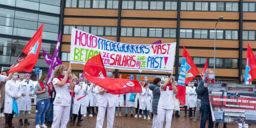
<path id="1" fill-rule="evenodd" d="M 76 85 L 74 88 L 74 93 L 75 93 L 75 97 L 73 99 L 74 104 L 73 104 L 73 114 L 78 114 L 79 112 L 79 108 L 81 106 L 80 109 L 80 114 L 86 114 L 86 96 L 89 96 L 88 94 L 88 89 L 86 90 L 86 86 L 81 86 L 80 85 Z M 85 97 L 81 98 L 80 100 L 76 100 L 77 98 L 80 98 L 82 96 L 86 95 Z"/>

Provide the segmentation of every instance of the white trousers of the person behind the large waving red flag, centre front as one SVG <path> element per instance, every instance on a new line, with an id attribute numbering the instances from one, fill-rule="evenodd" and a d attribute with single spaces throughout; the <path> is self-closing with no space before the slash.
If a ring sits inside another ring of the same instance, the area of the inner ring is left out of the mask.
<path id="1" fill-rule="evenodd" d="M 109 107 L 109 104 L 108 104 L 107 107 L 102 107 L 102 106 L 98 106 L 98 107 L 99 108 L 98 108 L 96 128 L 103 127 L 106 109 L 107 109 L 107 120 L 108 120 L 107 128 L 113 128 L 114 117 L 115 117 L 115 106 Z"/>

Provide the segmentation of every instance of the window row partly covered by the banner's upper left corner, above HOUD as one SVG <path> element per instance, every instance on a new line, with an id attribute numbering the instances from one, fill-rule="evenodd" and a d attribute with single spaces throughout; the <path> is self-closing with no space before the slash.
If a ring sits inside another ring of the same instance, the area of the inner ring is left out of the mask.
<path id="1" fill-rule="evenodd" d="M 64 34 L 71 34 L 72 28 L 97 36 L 117 36 L 117 27 L 64 25 Z"/>

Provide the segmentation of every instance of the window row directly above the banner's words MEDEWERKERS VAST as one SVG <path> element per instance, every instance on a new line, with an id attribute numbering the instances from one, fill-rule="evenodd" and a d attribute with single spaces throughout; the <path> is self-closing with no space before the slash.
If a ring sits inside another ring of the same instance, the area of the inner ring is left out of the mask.
<path id="1" fill-rule="evenodd" d="M 121 36 L 176 38 L 176 29 L 121 27 Z"/>

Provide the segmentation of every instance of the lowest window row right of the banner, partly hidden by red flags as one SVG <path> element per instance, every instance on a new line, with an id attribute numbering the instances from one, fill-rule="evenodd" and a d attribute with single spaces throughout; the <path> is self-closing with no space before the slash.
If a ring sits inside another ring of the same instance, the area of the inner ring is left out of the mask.
<path id="1" fill-rule="evenodd" d="M 201 49 L 199 49 L 201 50 Z M 207 58 L 203 57 L 191 57 L 196 67 L 204 67 Z M 179 65 L 181 65 L 182 57 L 179 57 Z M 208 67 L 214 67 L 214 58 L 208 58 Z M 216 68 L 238 68 L 238 59 L 232 58 L 216 58 Z"/>

